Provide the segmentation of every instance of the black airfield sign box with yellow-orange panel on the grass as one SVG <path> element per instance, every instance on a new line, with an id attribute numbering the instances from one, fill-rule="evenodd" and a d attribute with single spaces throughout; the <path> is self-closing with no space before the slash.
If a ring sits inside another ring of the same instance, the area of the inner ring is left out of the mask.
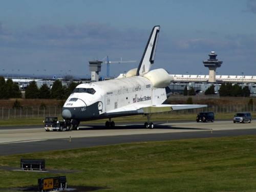
<path id="1" fill-rule="evenodd" d="M 48 177 L 38 179 L 38 190 L 62 190 L 67 189 L 66 176 Z"/>

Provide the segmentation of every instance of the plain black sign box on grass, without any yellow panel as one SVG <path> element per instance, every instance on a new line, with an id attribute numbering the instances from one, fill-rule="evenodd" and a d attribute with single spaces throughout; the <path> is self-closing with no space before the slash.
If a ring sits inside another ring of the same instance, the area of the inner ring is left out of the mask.
<path id="1" fill-rule="evenodd" d="M 46 161 L 44 159 L 20 159 L 20 168 L 22 170 L 42 170 L 46 167 Z"/>

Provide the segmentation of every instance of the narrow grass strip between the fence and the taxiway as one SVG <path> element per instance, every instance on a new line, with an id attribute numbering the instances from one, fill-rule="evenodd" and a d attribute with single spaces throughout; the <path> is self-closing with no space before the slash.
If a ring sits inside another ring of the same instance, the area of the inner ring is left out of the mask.
<path id="1" fill-rule="evenodd" d="M 220 120 L 220 119 L 227 119 L 227 120 L 232 120 L 234 113 L 218 113 L 215 114 L 215 119 Z M 256 116 L 256 112 L 251 113 L 252 117 Z M 154 121 L 172 121 L 172 120 L 196 120 L 197 114 L 183 114 L 182 112 L 180 114 L 166 114 L 166 113 L 161 113 L 161 114 L 153 114 L 151 120 Z M 58 117 L 59 119 L 62 119 L 62 117 Z M 117 118 L 112 118 L 115 122 L 145 122 L 146 121 L 146 116 L 143 115 L 134 115 L 134 116 L 126 116 L 126 117 L 117 117 Z M 23 119 L 0 119 L 0 129 L 1 126 L 20 126 L 20 125 L 42 125 L 42 120 L 44 120 L 43 117 L 40 118 L 23 118 Z M 82 124 L 87 124 L 87 123 L 105 123 L 106 119 L 100 119 L 100 120 L 95 120 L 95 121 L 84 121 L 81 122 Z"/>

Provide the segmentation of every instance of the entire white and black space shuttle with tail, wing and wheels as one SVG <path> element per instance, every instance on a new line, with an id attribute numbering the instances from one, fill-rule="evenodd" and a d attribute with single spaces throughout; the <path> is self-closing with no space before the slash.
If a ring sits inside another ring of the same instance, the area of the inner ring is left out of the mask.
<path id="1" fill-rule="evenodd" d="M 168 85 L 174 80 L 164 69 L 150 70 L 154 64 L 160 26 L 154 26 L 136 69 L 124 77 L 79 84 L 62 108 L 62 117 L 79 129 L 81 121 L 108 119 L 114 127 L 115 117 L 144 114 L 145 128 L 153 129 L 151 115 L 160 112 L 205 108 L 200 104 L 167 104 Z"/>

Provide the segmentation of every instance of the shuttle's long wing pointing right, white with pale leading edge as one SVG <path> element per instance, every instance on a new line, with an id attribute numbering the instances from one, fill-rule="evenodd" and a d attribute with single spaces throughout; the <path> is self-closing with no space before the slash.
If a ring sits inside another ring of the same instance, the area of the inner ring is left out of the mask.
<path id="1" fill-rule="evenodd" d="M 138 104 L 134 103 L 131 105 L 123 106 L 115 110 L 107 112 L 109 115 L 115 114 L 152 114 L 161 112 L 170 112 L 178 110 L 189 110 L 189 109 L 199 109 L 207 108 L 207 104 Z"/>

